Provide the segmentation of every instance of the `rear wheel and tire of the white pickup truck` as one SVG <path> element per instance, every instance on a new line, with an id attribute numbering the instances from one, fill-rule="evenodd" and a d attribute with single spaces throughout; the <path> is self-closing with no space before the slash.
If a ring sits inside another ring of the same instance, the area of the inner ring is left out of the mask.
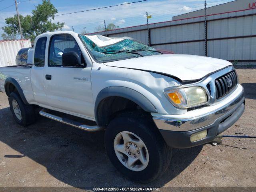
<path id="1" fill-rule="evenodd" d="M 12 115 L 18 124 L 28 126 L 35 122 L 34 107 L 32 105 L 25 105 L 20 96 L 15 92 L 10 94 L 9 104 Z"/>

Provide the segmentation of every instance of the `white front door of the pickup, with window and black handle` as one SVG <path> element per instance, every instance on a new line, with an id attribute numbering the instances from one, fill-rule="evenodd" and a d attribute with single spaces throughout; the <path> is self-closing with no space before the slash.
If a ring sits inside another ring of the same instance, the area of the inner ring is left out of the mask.
<path id="1" fill-rule="evenodd" d="M 63 66 L 62 54 L 76 52 L 81 66 Z M 48 66 L 45 69 L 46 94 L 53 110 L 94 118 L 91 87 L 91 67 L 71 34 L 58 34 L 50 38 Z"/>

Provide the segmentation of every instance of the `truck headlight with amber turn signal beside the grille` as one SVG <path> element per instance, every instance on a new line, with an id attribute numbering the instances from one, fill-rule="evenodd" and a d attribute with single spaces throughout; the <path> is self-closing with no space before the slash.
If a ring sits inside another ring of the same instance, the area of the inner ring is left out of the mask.
<path id="1" fill-rule="evenodd" d="M 166 90 L 165 94 L 178 108 L 190 108 L 207 102 L 206 92 L 199 86 Z"/>

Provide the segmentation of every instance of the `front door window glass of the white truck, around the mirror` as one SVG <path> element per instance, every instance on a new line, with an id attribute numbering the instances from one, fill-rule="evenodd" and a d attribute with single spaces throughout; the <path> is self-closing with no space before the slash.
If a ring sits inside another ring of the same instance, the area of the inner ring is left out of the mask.
<path id="1" fill-rule="evenodd" d="M 48 66 L 62 66 L 62 54 L 73 51 L 78 54 L 80 63 L 84 65 L 84 57 L 72 35 L 60 34 L 53 36 L 50 40 Z"/>

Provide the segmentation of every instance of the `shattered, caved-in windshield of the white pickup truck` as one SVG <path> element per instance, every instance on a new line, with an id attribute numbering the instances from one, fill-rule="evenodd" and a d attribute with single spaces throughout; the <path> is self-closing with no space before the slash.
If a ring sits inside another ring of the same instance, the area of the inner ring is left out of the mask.
<path id="1" fill-rule="evenodd" d="M 132 38 L 108 38 L 97 36 L 96 40 L 98 41 L 96 41 L 91 36 L 79 34 L 79 37 L 94 60 L 98 63 L 162 54 L 154 48 Z M 100 41 L 101 39 L 103 40 Z M 105 39 L 112 42 L 112 44 L 106 43 L 108 41 Z M 95 42 L 92 40 L 95 40 Z M 102 44 L 102 46 L 100 46 L 100 44 Z"/>

